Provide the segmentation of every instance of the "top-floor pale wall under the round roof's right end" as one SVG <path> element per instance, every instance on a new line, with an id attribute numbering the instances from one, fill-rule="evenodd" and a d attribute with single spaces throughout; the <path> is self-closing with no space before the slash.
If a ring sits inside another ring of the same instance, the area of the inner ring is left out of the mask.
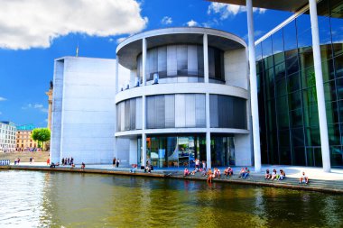
<path id="1" fill-rule="evenodd" d="M 248 89 L 248 66 L 246 49 L 229 50 L 224 53 L 226 84 Z"/>

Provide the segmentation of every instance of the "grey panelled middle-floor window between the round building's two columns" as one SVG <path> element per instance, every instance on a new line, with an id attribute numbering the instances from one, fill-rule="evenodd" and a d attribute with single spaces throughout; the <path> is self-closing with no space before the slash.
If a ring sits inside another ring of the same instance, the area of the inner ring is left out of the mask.
<path id="1" fill-rule="evenodd" d="M 176 94 L 146 97 L 146 128 L 205 127 L 205 95 Z"/>

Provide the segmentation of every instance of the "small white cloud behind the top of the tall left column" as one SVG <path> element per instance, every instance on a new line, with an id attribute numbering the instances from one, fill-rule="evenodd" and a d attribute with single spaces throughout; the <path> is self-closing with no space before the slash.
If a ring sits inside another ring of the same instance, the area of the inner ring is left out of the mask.
<path id="1" fill-rule="evenodd" d="M 254 12 L 258 14 L 264 14 L 265 11 L 266 9 L 254 8 Z M 208 8 L 208 14 L 220 14 L 220 20 L 225 20 L 230 15 L 235 16 L 242 12 L 246 12 L 246 6 L 211 3 Z"/>

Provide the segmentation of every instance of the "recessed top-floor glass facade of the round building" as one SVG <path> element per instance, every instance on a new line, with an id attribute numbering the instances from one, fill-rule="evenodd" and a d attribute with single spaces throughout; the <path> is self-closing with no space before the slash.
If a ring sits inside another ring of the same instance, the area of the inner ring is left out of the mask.
<path id="1" fill-rule="evenodd" d="M 166 45 L 147 50 L 146 81 L 158 83 L 204 82 L 204 52 L 202 45 Z M 137 77 L 142 80 L 142 54 L 137 57 Z M 209 79 L 225 83 L 224 51 L 209 47 Z"/>

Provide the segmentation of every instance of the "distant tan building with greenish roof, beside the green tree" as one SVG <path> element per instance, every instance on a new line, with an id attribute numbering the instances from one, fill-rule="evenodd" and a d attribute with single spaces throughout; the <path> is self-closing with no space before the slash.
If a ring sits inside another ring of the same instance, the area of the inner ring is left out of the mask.
<path id="1" fill-rule="evenodd" d="M 37 148 L 37 142 L 33 141 L 31 134 L 35 129 L 33 124 L 25 124 L 17 126 L 16 128 L 16 149 L 17 150 L 31 150 Z"/>

